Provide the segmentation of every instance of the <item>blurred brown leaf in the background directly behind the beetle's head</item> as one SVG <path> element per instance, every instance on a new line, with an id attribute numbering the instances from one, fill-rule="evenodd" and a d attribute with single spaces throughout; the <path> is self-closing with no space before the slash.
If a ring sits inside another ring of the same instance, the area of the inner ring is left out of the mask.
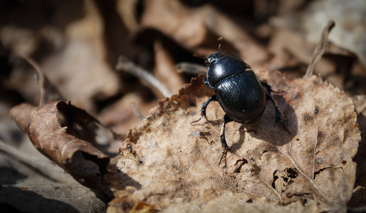
<path id="1" fill-rule="evenodd" d="M 214 49 L 202 48 L 202 44 L 223 37 L 224 42 L 235 48 L 233 51 L 226 48 L 227 51 L 238 51 L 235 55 L 252 65 L 268 59 L 266 50 L 242 26 L 209 4 L 189 8 L 178 0 L 144 1 L 140 28 L 157 29 L 185 48 L 194 48 L 200 55 L 217 50 L 216 44 Z"/>

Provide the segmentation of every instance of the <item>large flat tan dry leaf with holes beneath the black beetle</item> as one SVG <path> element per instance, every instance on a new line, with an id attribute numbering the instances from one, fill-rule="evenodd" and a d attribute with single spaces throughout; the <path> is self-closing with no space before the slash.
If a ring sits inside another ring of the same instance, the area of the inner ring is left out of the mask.
<path id="1" fill-rule="evenodd" d="M 256 123 L 227 124 L 231 152 L 219 166 L 220 105 L 209 104 L 208 122 L 190 125 L 214 94 L 202 86 L 200 75 L 178 95 L 160 100 L 142 126 L 128 133 L 119 149 L 124 157 L 117 163 L 124 173 L 115 177 L 135 183 L 113 185 L 114 208 L 126 211 L 144 201 L 168 212 L 344 212 L 355 182 L 352 157 L 360 141 L 352 101 L 316 76 L 286 81 L 280 72 L 257 75 L 271 79 L 274 90 L 284 91 L 272 95 L 292 135 L 273 126 L 275 111 L 268 101 Z M 132 154 L 127 154 L 127 144 Z"/>

